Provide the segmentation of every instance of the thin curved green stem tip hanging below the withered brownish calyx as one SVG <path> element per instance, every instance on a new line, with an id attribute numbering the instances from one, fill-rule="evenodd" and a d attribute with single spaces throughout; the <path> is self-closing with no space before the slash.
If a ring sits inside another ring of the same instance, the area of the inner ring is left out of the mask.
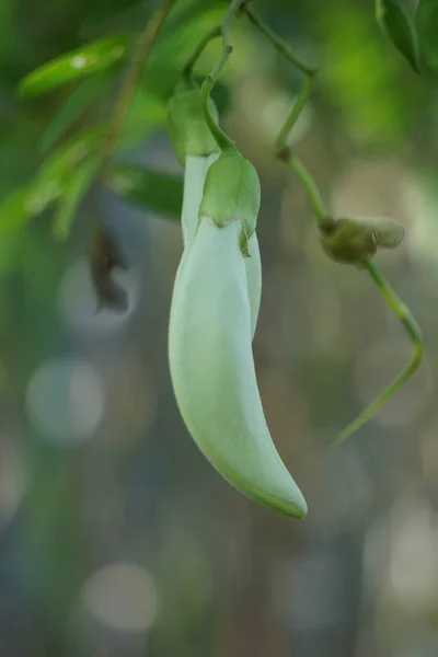
<path id="1" fill-rule="evenodd" d="M 423 336 L 419 326 L 406 306 L 401 301 L 394 290 L 391 288 L 388 280 L 381 274 L 380 269 L 369 260 L 364 261 L 364 267 L 367 269 L 371 279 L 382 295 L 388 307 L 397 315 L 404 330 L 406 331 L 413 346 L 411 361 L 403 371 L 383 390 L 383 392 L 348 424 L 339 434 L 331 441 L 331 445 L 339 445 L 348 436 L 357 431 L 366 422 L 371 419 L 382 406 L 389 402 L 394 394 L 407 383 L 407 381 L 417 371 L 423 360 Z"/>

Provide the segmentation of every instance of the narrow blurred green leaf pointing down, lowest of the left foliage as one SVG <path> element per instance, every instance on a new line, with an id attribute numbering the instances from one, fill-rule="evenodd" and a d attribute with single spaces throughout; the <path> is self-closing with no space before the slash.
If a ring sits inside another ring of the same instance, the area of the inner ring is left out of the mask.
<path id="1" fill-rule="evenodd" d="M 54 217 L 54 238 L 66 240 L 70 234 L 78 208 L 89 191 L 101 158 L 87 160 L 66 183 Z"/>

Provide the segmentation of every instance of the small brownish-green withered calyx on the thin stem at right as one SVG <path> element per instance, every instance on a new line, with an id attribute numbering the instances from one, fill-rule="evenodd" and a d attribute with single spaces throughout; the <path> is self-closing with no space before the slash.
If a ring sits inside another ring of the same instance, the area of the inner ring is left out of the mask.
<path id="1" fill-rule="evenodd" d="M 320 223 L 324 252 L 337 263 L 360 265 L 376 255 L 378 249 L 396 249 L 404 228 L 395 221 L 360 221 L 325 219 Z"/>

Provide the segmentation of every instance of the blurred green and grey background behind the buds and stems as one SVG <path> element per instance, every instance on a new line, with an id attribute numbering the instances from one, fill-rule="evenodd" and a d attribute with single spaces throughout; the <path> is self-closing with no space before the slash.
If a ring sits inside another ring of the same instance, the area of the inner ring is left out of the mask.
<path id="1" fill-rule="evenodd" d="M 178 175 L 166 99 L 226 8 L 181 1 L 188 13 L 163 33 L 117 155 Z M 88 41 L 135 34 L 154 4 L 2 0 L 3 198 L 35 174 L 42 135 L 74 89 L 22 100 L 20 80 Z M 128 203 L 125 180 L 119 193 L 87 196 L 67 241 L 54 241 L 50 211 L 2 230 L 2 657 L 438 654 L 437 92 L 385 39 L 371 0 L 254 4 L 298 54 L 322 65 L 291 143 L 328 207 L 406 228 L 402 247 L 377 262 L 424 331 L 425 362 L 376 419 L 327 449 L 411 347 L 367 275 L 321 252 L 303 189 L 273 157 L 302 79 L 240 19 L 216 99 L 262 178 L 254 357 L 274 440 L 309 515 L 293 521 L 246 500 L 182 423 L 166 356 L 178 221 Z M 108 115 L 123 72 L 70 136 Z M 126 314 L 95 313 L 88 255 L 96 219 L 129 264 L 119 277 Z"/>

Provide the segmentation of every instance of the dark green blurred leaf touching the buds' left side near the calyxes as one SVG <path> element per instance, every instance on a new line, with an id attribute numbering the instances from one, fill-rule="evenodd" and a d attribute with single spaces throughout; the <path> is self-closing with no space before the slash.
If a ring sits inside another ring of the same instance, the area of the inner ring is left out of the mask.
<path id="1" fill-rule="evenodd" d="M 172 219 L 181 217 L 181 175 L 153 171 L 138 164 L 119 164 L 110 173 L 107 185 L 128 203 Z"/>

